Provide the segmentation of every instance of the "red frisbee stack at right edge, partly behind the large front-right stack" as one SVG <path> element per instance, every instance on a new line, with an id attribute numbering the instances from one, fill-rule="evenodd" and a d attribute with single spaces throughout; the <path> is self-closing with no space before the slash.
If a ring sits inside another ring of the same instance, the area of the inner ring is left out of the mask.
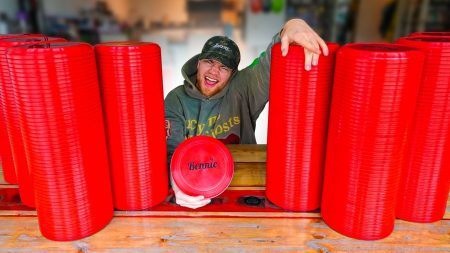
<path id="1" fill-rule="evenodd" d="M 450 188 L 450 36 L 406 37 L 398 43 L 426 57 L 397 217 L 435 222 L 444 217 Z"/>

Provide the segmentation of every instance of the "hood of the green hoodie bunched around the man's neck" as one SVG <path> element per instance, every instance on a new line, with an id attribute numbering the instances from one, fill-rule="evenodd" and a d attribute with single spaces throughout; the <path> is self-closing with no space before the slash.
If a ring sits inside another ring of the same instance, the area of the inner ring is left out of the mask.
<path id="1" fill-rule="evenodd" d="M 190 97 L 196 99 L 218 99 L 223 97 L 228 92 L 231 80 L 233 79 L 237 71 L 234 71 L 234 73 L 230 77 L 230 80 L 228 80 L 228 84 L 225 85 L 225 87 L 219 93 L 208 98 L 203 95 L 195 85 L 197 83 L 197 65 L 199 56 L 200 54 L 195 55 L 194 57 L 189 59 L 181 68 L 181 74 L 184 78 L 184 90 Z"/>

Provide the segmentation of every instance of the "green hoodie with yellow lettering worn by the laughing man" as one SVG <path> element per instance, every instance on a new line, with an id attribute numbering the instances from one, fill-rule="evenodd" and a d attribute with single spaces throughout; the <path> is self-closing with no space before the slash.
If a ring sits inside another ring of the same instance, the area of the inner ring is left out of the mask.
<path id="1" fill-rule="evenodd" d="M 184 64 L 184 85 L 173 89 L 164 101 L 168 161 L 181 142 L 197 135 L 225 144 L 256 143 L 256 120 L 269 100 L 271 48 L 279 41 L 276 34 L 265 52 L 209 98 L 195 86 L 199 55 Z"/>

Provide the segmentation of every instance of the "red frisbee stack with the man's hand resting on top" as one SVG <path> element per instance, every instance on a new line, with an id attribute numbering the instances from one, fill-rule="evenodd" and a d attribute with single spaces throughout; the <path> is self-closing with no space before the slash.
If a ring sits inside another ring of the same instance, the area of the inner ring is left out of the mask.
<path id="1" fill-rule="evenodd" d="M 334 59 L 339 46 L 306 71 L 304 48 L 272 48 L 266 195 L 292 211 L 320 207 Z"/>

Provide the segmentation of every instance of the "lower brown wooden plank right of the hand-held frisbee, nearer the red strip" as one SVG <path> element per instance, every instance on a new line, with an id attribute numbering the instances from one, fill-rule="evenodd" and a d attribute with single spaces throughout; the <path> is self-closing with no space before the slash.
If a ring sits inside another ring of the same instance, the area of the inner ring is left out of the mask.
<path id="1" fill-rule="evenodd" d="M 266 185 L 265 163 L 235 163 L 234 176 L 230 186 L 264 187 Z"/>

